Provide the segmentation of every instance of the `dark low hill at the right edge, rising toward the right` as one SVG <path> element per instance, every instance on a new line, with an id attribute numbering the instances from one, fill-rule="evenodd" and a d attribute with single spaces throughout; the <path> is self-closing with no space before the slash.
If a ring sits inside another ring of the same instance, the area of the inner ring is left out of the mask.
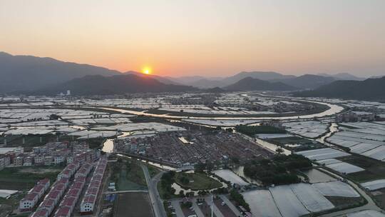
<path id="1" fill-rule="evenodd" d="M 364 81 L 334 81 L 315 89 L 301 91 L 294 96 L 328 97 L 361 100 L 385 100 L 385 76 Z"/>

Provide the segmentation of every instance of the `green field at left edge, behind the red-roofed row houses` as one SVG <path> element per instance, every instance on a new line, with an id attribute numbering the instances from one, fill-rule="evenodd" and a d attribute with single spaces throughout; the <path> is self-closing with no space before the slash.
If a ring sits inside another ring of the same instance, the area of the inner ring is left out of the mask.
<path id="1" fill-rule="evenodd" d="M 25 191 L 34 187 L 35 183 L 43 178 L 49 178 L 51 183 L 63 170 L 58 166 L 23 166 L 4 168 L 0 171 L 0 186 L 7 190 Z"/>

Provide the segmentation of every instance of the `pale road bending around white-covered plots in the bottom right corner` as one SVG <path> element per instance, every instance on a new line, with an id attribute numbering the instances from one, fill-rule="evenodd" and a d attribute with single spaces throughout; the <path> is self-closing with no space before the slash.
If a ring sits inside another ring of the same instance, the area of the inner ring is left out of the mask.
<path id="1" fill-rule="evenodd" d="M 330 171 L 327 171 L 324 168 L 319 168 L 319 169 L 324 171 L 325 173 L 329 173 L 329 174 L 332 174 L 334 176 L 342 178 L 341 176 L 338 176 L 336 173 L 332 173 Z M 349 208 L 349 209 L 346 209 L 344 211 L 338 211 L 338 212 L 334 212 L 334 213 L 325 214 L 325 215 L 322 215 L 322 217 L 345 216 L 347 213 L 354 213 L 354 212 L 362 211 L 362 210 L 366 210 L 366 209 L 371 209 L 371 210 L 375 210 L 375 211 L 379 211 L 379 212 L 384 213 L 384 211 L 382 211 L 381 208 L 379 208 L 376 205 L 376 203 L 374 203 L 374 201 L 371 199 L 371 197 L 369 195 L 367 195 L 365 191 L 362 191 L 362 189 L 359 188 L 359 186 L 357 186 L 356 183 L 349 181 L 349 180 L 347 180 L 347 181 L 358 193 L 361 194 L 361 196 L 363 196 L 366 199 L 366 201 L 368 201 L 368 203 L 366 203 L 366 205 L 364 205 L 364 206 L 359 206 L 356 208 Z"/>

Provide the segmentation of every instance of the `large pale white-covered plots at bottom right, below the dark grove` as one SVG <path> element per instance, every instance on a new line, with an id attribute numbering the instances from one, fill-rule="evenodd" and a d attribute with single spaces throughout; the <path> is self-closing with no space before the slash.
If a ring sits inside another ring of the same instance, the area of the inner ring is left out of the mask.
<path id="1" fill-rule="evenodd" d="M 330 183 L 332 183 L 332 186 L 330 186 Z M 347 187 L 350 186 L 337 181 L 316 184 L 296 183 L 275 186 L 269 188 L 269 191 L 246 191 L 242 193 L 242 196 L 249 203 L 253 216 L 297 217 L 307 213 L 327 211 L 336 206 L 349 206 L 352 203 L 360 203 L 359 194 L 353 188 Z M 325 196 L 324 192 L 333 195 L 338 194 L 339 196 Z M 329 198 L 331 199 L 329 200 Z"/>

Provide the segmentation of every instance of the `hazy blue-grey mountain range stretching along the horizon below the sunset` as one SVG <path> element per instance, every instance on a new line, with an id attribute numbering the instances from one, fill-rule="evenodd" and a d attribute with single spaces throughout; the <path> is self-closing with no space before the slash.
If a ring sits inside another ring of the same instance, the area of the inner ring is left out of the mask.
<path id="1" fill-rule="evenodd" d="M 274 71 L 242 71 L 228 77 L 185 76 L 174 78 L 146 75 L 136 71 L 120 72 L 51 58 L 13 56 L 4 52 L 0 52 L 0 77 L 2 81 L 0 94 L 51 95 L 65 92 L 67 89 L 70 89 L 73 94 L 124 94 L 143 91 L 197 91 L 199 89 L 214 92 L 319 90 L 318 88 L 334 84 L 337 80 L 363 80 L 351 74 L 292 76 Z"/>

